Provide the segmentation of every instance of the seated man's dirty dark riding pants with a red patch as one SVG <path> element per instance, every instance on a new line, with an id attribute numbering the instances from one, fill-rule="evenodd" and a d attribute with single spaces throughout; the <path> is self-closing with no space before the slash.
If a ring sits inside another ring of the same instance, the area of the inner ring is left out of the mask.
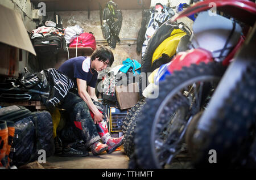
<path id="1" fill-rule="evenodd" d="M 93 101 L 94 105 L 102 112 L 105 112 L 100 102 Z M 69 114 L 69 125 L 79 140 L 85 142 L 86 147 L 101 139 L 98 135 L 98 125 L 90 115 L 88 105 L 75 93 L 69 92 L 58 108 L 67 110 Z M 104 118 L 106 121 L 106 117 Z"/>

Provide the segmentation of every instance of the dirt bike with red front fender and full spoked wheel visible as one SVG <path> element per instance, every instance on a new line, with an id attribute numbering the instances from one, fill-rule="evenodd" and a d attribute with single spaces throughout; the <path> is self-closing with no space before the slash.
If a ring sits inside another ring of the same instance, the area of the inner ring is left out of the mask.
<path id="1" fill-rule="evenodd" d="M 251 25 L 255 22 L 255 20 L 253 23 L 251 22 L 255 19 L 255 3 L 248 1 L 237 1 L 239 3 L 235 1 L 199 2 L 181 12 L 174 20 L 208 10 L 210 2 L 216 3 L 217 9 L 224 12 L 230 12 L 234 9 L 236 9 L 236 12 L 244 12 L 245 16 L 242 18 L 240 17 L 241 14 L 233 16 L 243 23 Z M 252 15 L 253 18 L 251 18 Z M 218 17 L 218 15 L 216 16 Z M 194 25 L 198 18 L 200 18 L 200 14 L 197 16 Z M 226 23 L 222 25 L 225 26 Z M 237 36 L 236 40 L 230 40 L 234 32 L 239 32 L 236 31 L 239 25 L 236 22 L 231 24 L 233 25 L 231 25 L 228 38 L 225 38 L 224 45 L 220 46 L 219 39 L 221 38 L 217 39 L 218 36 L 210 40 L 211 43 L 216 43 L 215 48 L 218 48 L 213 49 L 212 52 L 209 52 L 211 49 L 205 50 L 209 47 L 209 41 L 206 41 L 208 44 L 203 43 L 204 46 L 199 45 L 200 38 L 205 40 L 208 37 L 207 35 L 213 33 L 210 31 L 211 29 L 205 31 L 207 33 L 201 37 L 199 35 L 203 32 L 200 32 L 200 28 L 204 29 L 205 23 L 199 26 L 199 33 L 196 34 L 196 29 L 193 29 L 194 36 L 192 36 L 194 38 L 192 37 L 191 42 L 192 48 L 195 49 L 177 54 L 172 59 L 168 66 L 168 72 L 171 75 L 166 76 L 162 82 L 159 82 L 159 97 L 146 100 L 140 119 L 138 119 L 135 135 L 135 153 L 138 158 L 138 167 L 164 168 L 165 165 L 171 164 L 175 156 L 184 150 L 184 136 L 187 128 L 191 125 L 191 122 L 199 119 L 199 115 L 202 114 L 204 109 L 208 109 L 208 104 L 211 102 L 210 97 L 213 96 L 214 90 L 218 87 L 218 82 L 224 75 L 226 66 L 232 61 L 234 54 L 237 53 L 243 43 L 242 36 Z M 246 28 L 241 30 L 246 32 Z M 224 31 L 216 33 L 216 35 L 223 34 L 225 34 Z M 226 41 L 226 39 L 229 41 Z M 230 46 L 229 42 L 233 42 L 233 46 Z M 225 138 L 225 136 L 223 137 Z M 197 148 L 202 143 L 199 142 L 197 142 L 199 144 Z"/>

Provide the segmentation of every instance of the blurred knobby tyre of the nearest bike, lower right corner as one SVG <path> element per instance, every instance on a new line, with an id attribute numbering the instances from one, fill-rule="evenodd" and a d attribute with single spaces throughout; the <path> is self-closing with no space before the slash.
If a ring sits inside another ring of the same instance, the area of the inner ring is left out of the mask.
<path id="1" fill-rule="evenodd" d="M 222 102 L 209 122 L 211 131 L 197 130 L 193 136 L 194 164 L 198 168 L 241 168 L 246 164 L 255 138 L 256 63 L 252 63 L 237 82 L 236 88 Z M 209 164 L 210 149 L 216 151 L 216 162 Z M 254 157 L 255 158 L 255 157 Z"/>

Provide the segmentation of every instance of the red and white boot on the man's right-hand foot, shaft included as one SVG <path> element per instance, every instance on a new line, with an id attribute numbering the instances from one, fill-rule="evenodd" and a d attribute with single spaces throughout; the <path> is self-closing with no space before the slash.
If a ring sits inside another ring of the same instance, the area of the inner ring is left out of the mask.
<path id="1" fill-rule="evenodd" d="M 121 136 L 120 138 L 112 138 L 110 136 L 106 121 L 101 121 L 100 123 L 98 123 L 98 126 L 100 127 L 97 128 L 98 134 L 100 135 L 102 142 L 108 145 L 108 154 L 112 153 L 113 151 L 115 151 L 115 149 L 123 144 L 123 136 Z"/>

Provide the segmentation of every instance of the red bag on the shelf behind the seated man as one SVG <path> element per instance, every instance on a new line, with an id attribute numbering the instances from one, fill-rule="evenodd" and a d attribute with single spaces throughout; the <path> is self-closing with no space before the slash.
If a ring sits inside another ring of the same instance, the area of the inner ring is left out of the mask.
<path id="1" fill-rule="evenodd" d="M 71 42 L 69 47 L 76 48 L 76 43 L 77 43 L 77 37 Z M 79 35 L 77 48 L 84 48 L 84 47 L 89 47 L 89 48 L 92 48 L 93 50 L 96 49 L 96 40 L 93 34 L 85 32 Z"/>

